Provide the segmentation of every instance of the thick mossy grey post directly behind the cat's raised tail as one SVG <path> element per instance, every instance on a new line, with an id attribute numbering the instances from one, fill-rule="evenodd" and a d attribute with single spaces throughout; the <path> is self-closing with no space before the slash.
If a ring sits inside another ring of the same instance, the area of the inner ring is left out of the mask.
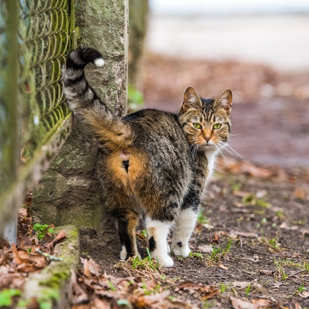
<path id="1" fill-rule="evenodd" d="M 128 0 L 78 0 L 76 25 L 81 46 L 100 50 L 103 68 L 89 65 L 86 78 L 119 116 L 127 108 Z M 76 122 L 76 121 L 75 121 Z M 76 122 L 68 140 L 33 192 L 34 223 L 86 227 L 89 245 L 100 242 L 117 251 L 115 224 L 106 213 L 96 175 L 98 145 Z M 91 241 L 90 241 L 91 240 Z M 81 239 L 83 241 L 83 239 Z M 113 243 L 114 242 L 114 243 Z"/>

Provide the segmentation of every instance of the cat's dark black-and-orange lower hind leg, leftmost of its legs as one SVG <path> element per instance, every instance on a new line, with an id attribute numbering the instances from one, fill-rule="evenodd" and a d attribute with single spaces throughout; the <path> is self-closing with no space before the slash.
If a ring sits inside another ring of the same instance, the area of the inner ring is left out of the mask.
<path id="1" fill-rule="evenodd" d="M 126 260 L 129 257 L 139 255 L 136 246 L 136 227 L 138 216 L 124 215 L 118 218 L 118 234 L 120 240 L 120 259 Z"/>

